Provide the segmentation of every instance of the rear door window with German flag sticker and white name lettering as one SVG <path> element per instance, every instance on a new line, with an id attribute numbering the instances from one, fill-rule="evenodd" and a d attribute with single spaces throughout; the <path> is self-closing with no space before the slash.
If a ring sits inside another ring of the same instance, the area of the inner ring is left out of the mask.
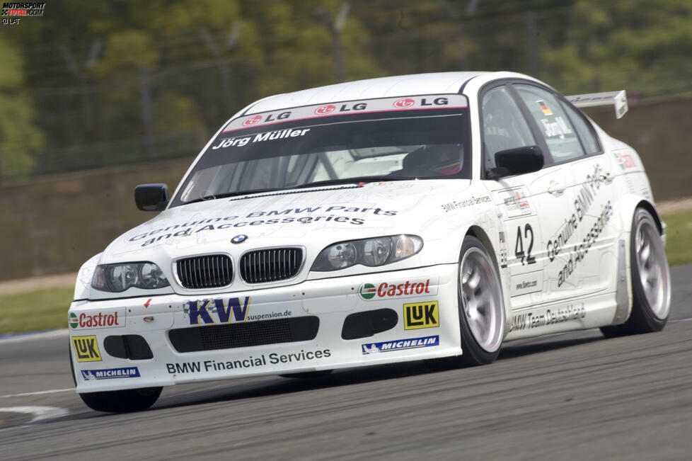
<path id="1" fill-rule="evenodd" d="M 555 163 L 584 156 L 577 130 L 553 93 L 532 85 L 515 84 L 514 89 L 536 120 Z"/>

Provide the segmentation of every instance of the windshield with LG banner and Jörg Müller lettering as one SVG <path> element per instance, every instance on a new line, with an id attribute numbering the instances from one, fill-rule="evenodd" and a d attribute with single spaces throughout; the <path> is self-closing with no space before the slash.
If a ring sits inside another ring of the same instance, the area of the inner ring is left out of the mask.
<path id="1" fill-rule="evenodd" d="M 349 101 L 231 120 L 171 206 L 269 190 L 470 175 L 466 96 Z"/>

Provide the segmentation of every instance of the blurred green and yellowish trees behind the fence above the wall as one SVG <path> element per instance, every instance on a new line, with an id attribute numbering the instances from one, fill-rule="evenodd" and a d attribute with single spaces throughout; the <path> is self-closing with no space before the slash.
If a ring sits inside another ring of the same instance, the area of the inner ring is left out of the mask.
<path id="1" fill-rule="evenodd" d="M 247 103 L 341 80 L 692 91 L 688 0 L 64 0 L 22 21 L 0 27 L 0 181 L 192 156 Z"/>

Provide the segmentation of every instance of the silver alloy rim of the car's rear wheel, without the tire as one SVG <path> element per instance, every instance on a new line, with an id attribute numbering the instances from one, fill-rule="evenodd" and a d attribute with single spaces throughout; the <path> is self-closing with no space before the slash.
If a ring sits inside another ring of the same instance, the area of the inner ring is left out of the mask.
<path id="1" fill-rule="evenodd" d="M 666 319 L 670 310 L 670 273 L 658 229 L 650 220 L 640 220 L 635 234 L 640 285 L 651 312 Z"/>

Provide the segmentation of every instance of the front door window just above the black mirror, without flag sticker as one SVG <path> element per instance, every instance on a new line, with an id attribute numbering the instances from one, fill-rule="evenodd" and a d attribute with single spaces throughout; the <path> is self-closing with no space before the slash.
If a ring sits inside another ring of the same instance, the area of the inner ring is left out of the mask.
<path id="1" fill-rule="evenodd" d="M 495 168 L 495 153 L 536 144 L 529 125 L 505 86 L 483 95 L 483 166 Z"/>

